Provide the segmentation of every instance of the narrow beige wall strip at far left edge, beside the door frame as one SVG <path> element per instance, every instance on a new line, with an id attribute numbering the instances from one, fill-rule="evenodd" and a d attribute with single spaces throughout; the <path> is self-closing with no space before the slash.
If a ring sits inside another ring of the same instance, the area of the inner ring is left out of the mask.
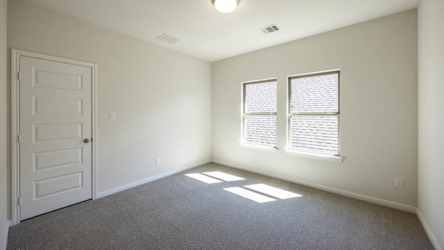
<path id="1" fill-rule="evenodd" d="M 6 164 L 6 135 L 8 123 L 6 113 L 8 105 L 6 103 L 6 17 L 8 10 L 8 0 L 0 0 L 0 249 L 6 249 L 6 232 L 8 226 L 8 212 L 6 201 L 8 193 L 6 188 L 7 167 Z"/>

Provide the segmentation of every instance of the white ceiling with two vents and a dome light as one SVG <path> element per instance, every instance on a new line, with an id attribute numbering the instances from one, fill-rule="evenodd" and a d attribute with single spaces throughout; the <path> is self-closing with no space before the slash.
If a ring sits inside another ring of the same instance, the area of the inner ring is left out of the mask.
<path id="1" fill-rule="evenodd" d="M 229 14 L 211 0 L 27 0 L 214 62 L 418 7 L 420 0 L 241 0 Z M 259 28 L 278 24 L 281 31 Z M 175 44 L 155 40 L 163 33 Z"/>

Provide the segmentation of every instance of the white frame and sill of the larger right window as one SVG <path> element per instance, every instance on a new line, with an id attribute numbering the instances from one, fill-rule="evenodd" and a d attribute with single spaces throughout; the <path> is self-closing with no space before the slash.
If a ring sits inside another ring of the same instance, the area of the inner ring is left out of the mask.
<path id="1" fill-rule="evenodd" d="M 312 76 L 323 76 L 327 74 L 337 74 L 338 75 L 338 110 L 337 112 L 293 112 L 291 108 L 291 80 L 295 78 L 306 78 L 306 77 L 312 77 Z M 316 158 L 321 160 L 331 160 L 334 162 L 341 163 L 343 158 L 341 157 L 341 121 L 340 121 L 340 86 L 341 86 L 341 71 L 340 69 L 334 69 L 329 70 L 325 72 L 314 72 L 309 74 L 298 74 L 296 76 L 289 76 L 287 79 L 287 103 L 288 103 L 288 118 L 287 118 L 287 151 L 286 153 L 290 155 L 296 155 L 296 156 L 302 156 L 306 158 Z M 337 153 L 336 154 L 328 154 L 328 153 L 318 153 L 318 152 L 311 152 L 311 151 L 302 151 L 302 150 L 296 150 L 291 149 L 291 117 L 292 116 L 336 116 L 338 121 L 338 131 L 337 131 Z"/>

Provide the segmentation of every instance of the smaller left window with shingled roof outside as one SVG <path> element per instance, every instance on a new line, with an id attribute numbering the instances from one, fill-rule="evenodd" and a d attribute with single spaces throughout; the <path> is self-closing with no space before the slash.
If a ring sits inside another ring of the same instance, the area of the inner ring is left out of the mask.
<path id="1" fill-rule="evenodd" d="M 243 84 L 244 144 L 276 147 L 276 79 Z"/>

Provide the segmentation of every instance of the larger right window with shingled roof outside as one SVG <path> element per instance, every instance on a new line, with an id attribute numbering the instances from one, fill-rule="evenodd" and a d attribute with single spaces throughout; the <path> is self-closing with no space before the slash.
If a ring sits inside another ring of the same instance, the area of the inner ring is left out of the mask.
<path id="1" fill-rule="evenodd" d="M 289 151 L 339 156 L 339 71 L 289 78 Z"/>

